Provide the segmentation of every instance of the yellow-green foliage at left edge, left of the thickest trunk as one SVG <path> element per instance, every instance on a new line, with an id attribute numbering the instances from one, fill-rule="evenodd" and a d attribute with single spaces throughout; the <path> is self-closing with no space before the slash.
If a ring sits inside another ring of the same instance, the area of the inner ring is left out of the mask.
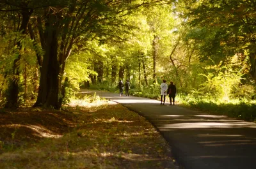
<path id="1" fill-rule="evenodd" d="M 43 55 L 42 48 L 35 45 L 35 41 L 31 40 L 21 33 L 10 33 L 3 36 L 5 45 L 0 50 L 0 89 L 3 91 L 3 96 L 6 96 L 9 91 L 8 82 L 10 80 L 19 83 L 19 103 L 24 103 L 26 99 L 35 98 L 35 88 L 38 85 L 38 62 L 36 54 Z M 19 43 L 20 47 L 13 45 Z M 1 44 L 2 45 L 2 44 Z M 15 66 L 13 63 L 15 59 Z M 13 72 L 19 71 L 19 77 Z M 35 78 L 37 77 L 37 78 Z M 26 80 L 26 86 L 25 86 Z M 26 88 L 26 89 L 25 89 Z M 24 92 L 26 91 L 26 93 Z M 24 96 L 26 94 L 26 96 Z"/>

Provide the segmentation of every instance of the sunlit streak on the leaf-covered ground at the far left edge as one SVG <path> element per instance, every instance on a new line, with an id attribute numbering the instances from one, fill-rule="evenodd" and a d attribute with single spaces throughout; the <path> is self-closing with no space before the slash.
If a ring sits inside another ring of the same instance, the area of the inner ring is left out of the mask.
<path id="1" fill-rule="evenodd" d="M 1 127 L 15 128 L 15 129 L 19 129 L 20 127 L 29 128 L 36 132 L 35 133 L 36 136 L 45 137 L 45 138 L 60 138 L 62 136 L 62 135 L 54 134 L 52 133 L 52 131 L 42 126 L 24 125 L 24 124 L 6 124 L 6 125 L 2 125 Z"/>

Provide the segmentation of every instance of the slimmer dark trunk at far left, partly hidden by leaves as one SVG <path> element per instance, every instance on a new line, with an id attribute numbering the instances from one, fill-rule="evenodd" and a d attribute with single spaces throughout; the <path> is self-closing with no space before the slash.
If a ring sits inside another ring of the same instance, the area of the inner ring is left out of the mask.
<path id="1" fill-rule="evenodd" d="M 19 27 L 19 31 L 22 34 L 26 34 L 29 18 L 31 17 L 32 13 L 33 13 L 33 10 L 29 10 L 29 8 L 24 8 L 21 11 L 22 22 Z M 17 41 L 17 46 L 19 48 L 21 48 L 20 41 Z M 17 57 L 17 59 L 15 59 L 15 61 L 13 62 L 13 75 L 15 77 L 15 80 L 10 79 L 10 84 L 8 86 L 7 102 L 6 102 L 6 105 L 4 106 L 5 108 L 19 107 L 19 105 L 18 105 L 19 97 L 18 96 L 19 96 L 20 71 L 19 71 L 19 69 L 17 69 L 17 67 L 18 67 L 17 64 L 18 64 L 19 60 L 20 60 L 20 54 Z"/>

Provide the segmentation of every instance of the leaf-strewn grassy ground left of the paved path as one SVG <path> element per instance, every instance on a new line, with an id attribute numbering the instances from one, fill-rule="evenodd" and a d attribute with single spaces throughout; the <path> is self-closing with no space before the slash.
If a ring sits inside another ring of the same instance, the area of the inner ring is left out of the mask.
<path id="1" fill-rule="evenodd" d="M 144 117 L 104 99 L 0 109 L 0 168 L 179 168 Z"/>

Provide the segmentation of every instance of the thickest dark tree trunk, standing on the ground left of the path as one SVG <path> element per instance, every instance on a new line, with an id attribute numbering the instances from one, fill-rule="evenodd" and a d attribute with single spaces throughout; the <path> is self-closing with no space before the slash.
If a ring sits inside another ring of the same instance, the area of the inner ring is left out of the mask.
<path id="1" fill-rule="evenodd" d="M 58 62 L 58 22 L 52 13 L 49 13 L 49 20 L 45 30 L 45 54 L 42 64 L 40 86 L 36 106 L 60 108 L 59 75 L 60 64 Z"/>

